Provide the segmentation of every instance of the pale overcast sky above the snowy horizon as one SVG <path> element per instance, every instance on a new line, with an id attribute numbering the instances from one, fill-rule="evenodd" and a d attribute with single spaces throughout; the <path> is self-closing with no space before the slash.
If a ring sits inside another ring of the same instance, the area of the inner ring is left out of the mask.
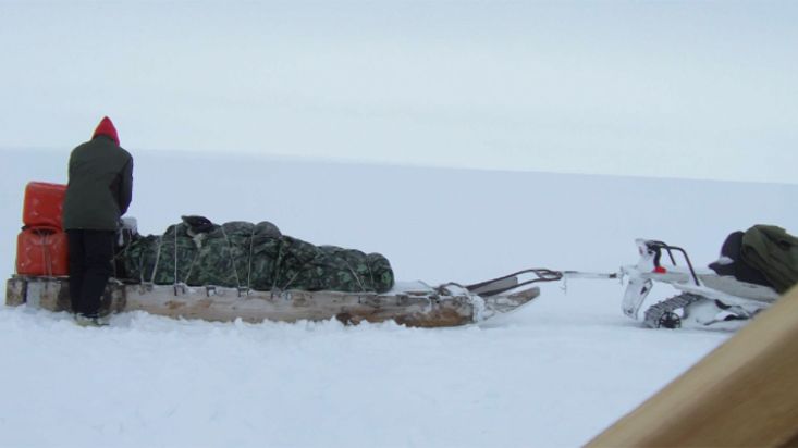
<path id="1" fill-rule="evenodd" d="M 0 148 L 798 183 L 798 2 L 0 1 Z"/>

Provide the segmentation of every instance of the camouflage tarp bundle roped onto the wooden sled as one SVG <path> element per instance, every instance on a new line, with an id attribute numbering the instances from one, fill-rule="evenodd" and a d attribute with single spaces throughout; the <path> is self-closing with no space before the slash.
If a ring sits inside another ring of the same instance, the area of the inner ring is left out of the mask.
<path id="1" fill-rule="evenodd" d="M 204 220 L 204 221 L 202 221 Z M 184 216 L 162 236 L 136 237 L 119 253 L 124 277 L 159 285 L 384 293 L 393 271 L 379 253 L 315 246 L 269 222 L 211 224 Z"/>

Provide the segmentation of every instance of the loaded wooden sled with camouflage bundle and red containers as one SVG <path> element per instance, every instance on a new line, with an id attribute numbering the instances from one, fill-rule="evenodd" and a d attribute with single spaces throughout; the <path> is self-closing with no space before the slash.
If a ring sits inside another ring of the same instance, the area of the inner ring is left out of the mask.
<path id="1" fill-rule="evenodd" d="M 63 186 L 28 185 L 7 304 L 70 310 L 62 200 Z M 283 235 L 270 222 L 214 224 L 202 216 L 183 216 L 163 234 L 148 236 L 137 234 L 133 220 L 126 223 L 120 231 L 115 275 L 102 299 L 103 313 L 143 310 L 209 321 L 335 318 L 346 323 L 394 320 L 410 326 L 453 326 L 528 303 L 539 295 L 530 284 L 545 276 L 532 270 L 474 285 L 396 283 L 380 253 L 315 246 Z"/>

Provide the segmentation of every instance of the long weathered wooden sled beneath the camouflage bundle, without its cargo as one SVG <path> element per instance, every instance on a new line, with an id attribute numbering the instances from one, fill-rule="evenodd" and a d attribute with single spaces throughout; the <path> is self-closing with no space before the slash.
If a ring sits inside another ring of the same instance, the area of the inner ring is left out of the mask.
<path id="1" fill-rule="evenodd" d="M 340 291 L 259 291 L 243 288 L 109 283 L 101 314 L 142 310 L 175 319 L 231 322 L 296 322 L 337 319 L 347 324 L 384 322 L 415 327 L 457 326 L 481 322 L 528 303 L 540 295 L 517 276 L 479 284 L 480 294 L 456 284 L 431 287 L 397 284 L 385 294 Z M 516 285 L 513 287 L 513 285 Z M 488 286 L 499 289 L 484 293 Z M 526 289 L 518 287 L 526 286 Z M 499 293 L 496 293 L 499 290 Z M 511 293 L 511 290 L 516 290 Z M 14 275 L 7 283 L 5 304 L 71 311 L 69 278 Z"/>

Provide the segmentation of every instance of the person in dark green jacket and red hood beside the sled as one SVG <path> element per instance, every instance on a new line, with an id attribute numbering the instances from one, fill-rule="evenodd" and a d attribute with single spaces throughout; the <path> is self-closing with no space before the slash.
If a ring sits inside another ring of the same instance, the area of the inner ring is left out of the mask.
<path id="1" fill-rule="evenodd" d="M 70 298 L 78 324 L 98 325 L 113 273 L 114 238 L 133 198 L 133 157 L 106 116 L 91 140 L 72 150 L 63 204 L 69 241 Z"/>

